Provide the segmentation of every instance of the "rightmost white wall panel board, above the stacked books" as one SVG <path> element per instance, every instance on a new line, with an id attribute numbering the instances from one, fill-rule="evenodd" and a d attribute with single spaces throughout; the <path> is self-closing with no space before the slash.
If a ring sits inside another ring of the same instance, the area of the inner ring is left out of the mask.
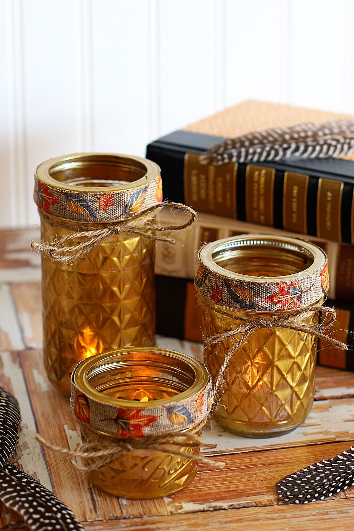
<path id="1" fill-rule="evenodd" d="M 349 110 L 353 87 L 344 83 L 352 68 L 352 31 L 344 31 L 353 13 L 345 0 L 297 0 L 291 3 L 290 101 L 337 112 Z M 349 56 L 348 56 L 349 55 Z"/>

